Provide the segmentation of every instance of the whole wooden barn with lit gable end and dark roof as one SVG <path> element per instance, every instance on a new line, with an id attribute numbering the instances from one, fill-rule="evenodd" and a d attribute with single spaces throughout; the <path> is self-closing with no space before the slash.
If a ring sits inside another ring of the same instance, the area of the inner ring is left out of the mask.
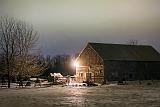
<path id="1" fill-rule="evenodd" d="M 88 43 L 76 59 L 76 80 L 160 80 L 160 54 L 145 45 Z"/>

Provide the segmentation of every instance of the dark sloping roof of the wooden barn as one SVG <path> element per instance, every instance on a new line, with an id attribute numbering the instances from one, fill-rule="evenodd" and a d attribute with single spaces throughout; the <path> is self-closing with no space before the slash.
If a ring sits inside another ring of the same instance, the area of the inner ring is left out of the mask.
<path id="1" fill-rule="evenodd" d="M 88 43 L 103 60 L 160 61 L 160 54 L 146 45 Z"/>

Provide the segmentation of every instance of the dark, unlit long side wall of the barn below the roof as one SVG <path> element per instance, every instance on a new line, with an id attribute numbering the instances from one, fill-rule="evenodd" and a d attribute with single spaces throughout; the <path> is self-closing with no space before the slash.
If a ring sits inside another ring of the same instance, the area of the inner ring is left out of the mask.
<path id="1" fill-rule="evenodd" d="M 105 80 L 159 80 L 160 62 L 105 61 Z"/>

